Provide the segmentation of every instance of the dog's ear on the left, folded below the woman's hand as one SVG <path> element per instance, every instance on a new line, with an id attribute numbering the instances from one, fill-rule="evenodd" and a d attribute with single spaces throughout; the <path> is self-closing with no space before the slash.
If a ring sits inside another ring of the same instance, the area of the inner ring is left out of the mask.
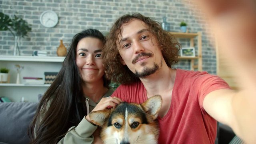
<path id="1" fill-rule="evenodd" d="M 98 126 L 102 126 L 106 120 L 106 118 L 108 118 L 109 114 L 110 114 L 110 110 L 111 109 L 105 109 L 105 110 L 98 110 L 98 111 L 94 111 L 91 112 L 89 114 L 90 120 L 98 125 Z"/>

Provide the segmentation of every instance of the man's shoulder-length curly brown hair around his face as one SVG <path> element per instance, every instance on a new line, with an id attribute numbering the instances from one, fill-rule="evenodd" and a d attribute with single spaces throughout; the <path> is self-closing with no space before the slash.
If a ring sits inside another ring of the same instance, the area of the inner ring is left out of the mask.
<path id="1" fill-rule="evenodd" d="M 122 36 L 122 25 L 130 22 L 132 19 L 138 19 L 147 24 L 150 32 L 156 36 L 168 67 L 171 68 L 172 64 L 178 62 L 178 51 L 181 47 L 172 34 L 162 29 L 159 22 L 143 16 L 140 13 L 121 16 L 108 33 L 106 45 L 102 52 L 103 64 L 106 68 L 106 76 L 112 78 L 113 82 L 118 82 L 120 84 L 131 84 L 140 80 L 126 65 L 121 63 L 121 56 L 118 52 L 118 44 L 120 43 L 120 41 L 118 41 L 118 36 Z"/>

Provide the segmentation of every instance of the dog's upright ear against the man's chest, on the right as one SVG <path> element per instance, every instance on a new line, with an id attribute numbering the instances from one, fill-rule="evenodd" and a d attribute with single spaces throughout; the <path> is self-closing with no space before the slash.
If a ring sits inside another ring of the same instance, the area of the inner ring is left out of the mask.
<path id="1" fill-rule="evenodd" d="M 153 116 L 153 119 L 155 120 L 158 116 L 158 112 L 160 111 L 162 107 L 162 96 L 155 95 L 146 100 L 146 102 L 142 103 L 141 106 L 149 112 Z"/>

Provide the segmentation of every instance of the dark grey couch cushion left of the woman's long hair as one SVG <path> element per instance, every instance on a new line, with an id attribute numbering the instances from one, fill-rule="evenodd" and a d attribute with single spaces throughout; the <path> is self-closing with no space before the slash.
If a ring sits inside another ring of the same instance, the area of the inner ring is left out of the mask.
<path id="1" fill-rule="evenodd" d="M 0 103 L 0 142 L 27 144 L 28 126 L 33 119 L 38 103 Z"/>

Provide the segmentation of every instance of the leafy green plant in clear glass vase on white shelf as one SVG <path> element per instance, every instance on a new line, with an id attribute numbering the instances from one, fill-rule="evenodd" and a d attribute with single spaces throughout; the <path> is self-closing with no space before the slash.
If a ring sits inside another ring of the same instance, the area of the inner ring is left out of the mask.
<path id="1" fill-rule="evenodd" d="M 0 31 L 9 30 L 14 36 L 15 46 L 14 55 L 16 55 L 16 49 L 18 49 L 18 54 L 20 55 L 19 41 L 20 38 L 28 36 L 28 32 L 31 32 L 31 24 L 28 24 L 26 20 L 14 15 L 13 18 L 0 12 Z"/>

